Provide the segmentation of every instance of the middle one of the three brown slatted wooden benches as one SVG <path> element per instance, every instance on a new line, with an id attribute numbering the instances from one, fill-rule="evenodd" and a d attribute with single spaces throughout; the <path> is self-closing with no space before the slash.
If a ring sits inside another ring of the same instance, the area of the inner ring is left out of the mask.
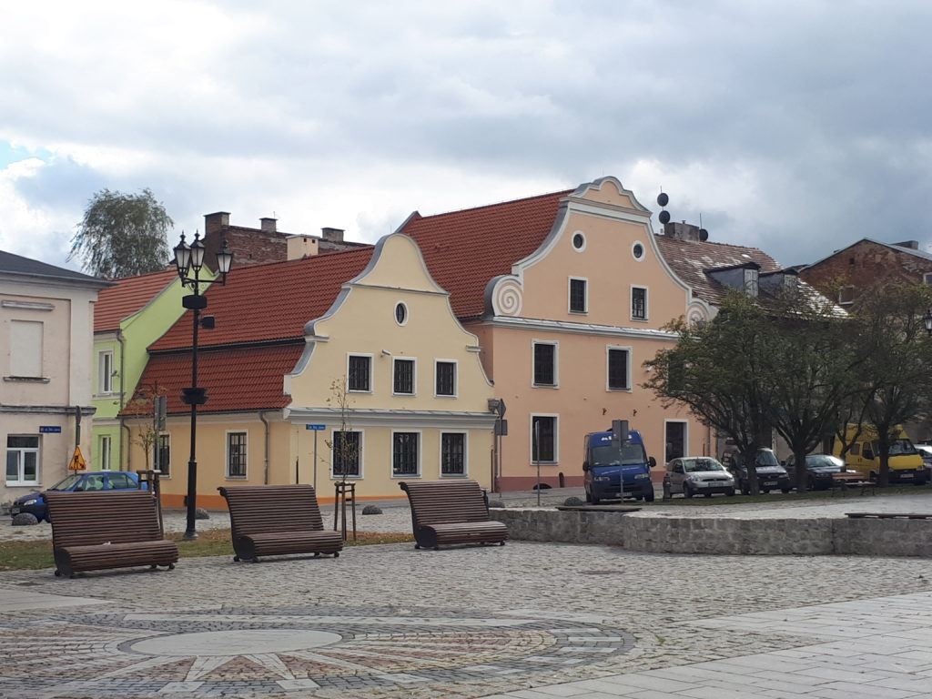
<path id="1" fill-rule="evenodd" d="M 312 486 L 230 486 L 217 488 L 230 511 L 234 561 L 259 562 L 260 555 L 333 554 L 343 538 L 323 528 Z"/>

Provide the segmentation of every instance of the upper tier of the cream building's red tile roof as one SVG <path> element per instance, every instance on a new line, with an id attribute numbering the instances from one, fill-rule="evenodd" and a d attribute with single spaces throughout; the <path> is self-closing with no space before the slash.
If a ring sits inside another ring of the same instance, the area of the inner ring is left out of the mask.
<path id="1" fill-rule="evenodd" d="M 226 286 L 215 283 L 207 292 L 204 312 L 214 316 L 216 328 L 200 332 L 200 347 L 303 339 L 305 323 L 330 308 L 340 287 L 369 263 L 372 251 L 370 246 L 289 262 L 233 267 Z M 149 349 L 190 346 L 191 318 L 185 313 Z"/>

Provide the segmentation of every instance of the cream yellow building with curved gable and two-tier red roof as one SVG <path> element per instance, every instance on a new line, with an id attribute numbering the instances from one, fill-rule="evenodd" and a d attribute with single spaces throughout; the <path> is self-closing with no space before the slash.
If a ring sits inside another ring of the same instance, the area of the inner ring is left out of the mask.
<path id="1" fill-rule="evenodd" d="M 400 497 L 399 482 L 414 478 L 491 485 L 494 391 L 476 337 L 407 236 L 234 269 L 208 300 L 216 329 L 199 343 L 199 504 L 222 505 L 216 488 L 230 483 L 316 483 L 329 500 L 344 474 L 360 499 Z M 190 334 L 185 316 L 150 347 L 140 381 L 169 399 L 170 505 L 186 489 Z"/>

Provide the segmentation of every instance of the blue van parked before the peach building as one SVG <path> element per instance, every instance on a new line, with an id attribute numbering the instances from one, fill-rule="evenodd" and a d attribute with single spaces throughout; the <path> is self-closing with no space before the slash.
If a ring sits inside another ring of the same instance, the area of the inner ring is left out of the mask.
<path id="1" fill-rule="evenodd" d="M 651 468 L 657 461 L 648 459 L 640 432 L 631 430 L 621 445 L 611 443 L 611 431 L 585 435 L 583 484 L 585 501 L 597 505 L 601 500 L 621 500 L 619 483 L 624 478 L 624 497 L 653 501 Z"/>

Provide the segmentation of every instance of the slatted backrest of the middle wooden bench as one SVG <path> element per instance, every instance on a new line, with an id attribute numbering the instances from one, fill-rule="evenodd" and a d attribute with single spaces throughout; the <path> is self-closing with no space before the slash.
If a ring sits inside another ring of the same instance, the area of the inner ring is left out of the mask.
<path id="1" fill-rule="evenodd" d="M 233 537 L 273 531 L 320 531 L 321 509 L 313 486 L 217 488 L 230 510 Z"/>

